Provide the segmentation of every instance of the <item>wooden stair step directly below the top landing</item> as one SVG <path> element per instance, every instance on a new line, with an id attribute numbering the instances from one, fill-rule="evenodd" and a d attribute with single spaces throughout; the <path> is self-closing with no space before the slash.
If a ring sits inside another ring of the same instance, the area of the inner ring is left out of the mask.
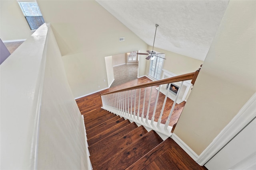
<path id="1" fill-rule="evenodd" d="M 149 131 L 146 135 L 124 148 L 122 151 L 111 156 L 105 162 L 93 167 L 95 169 L 120 169 L 124 170 L 140 159 L 144 154 L 154 149 L 163 140 L 155 131 Z"/>

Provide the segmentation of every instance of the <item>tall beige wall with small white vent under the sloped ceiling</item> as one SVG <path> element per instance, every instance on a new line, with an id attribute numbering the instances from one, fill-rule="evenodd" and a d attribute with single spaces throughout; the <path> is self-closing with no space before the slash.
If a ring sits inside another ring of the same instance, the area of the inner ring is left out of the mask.
<path id="1" fill-rule="evenodd" d="M 52 25 L 74 97 L 108 87 L 104 57 L 147 50 L 144 41 L 96 1 L 38 0 L 38 5 Z"/>

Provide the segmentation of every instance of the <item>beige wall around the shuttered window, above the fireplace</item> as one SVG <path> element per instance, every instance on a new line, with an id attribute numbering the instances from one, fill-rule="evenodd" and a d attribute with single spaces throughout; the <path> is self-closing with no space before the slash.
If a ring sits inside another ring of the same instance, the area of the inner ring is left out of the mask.
<path id="1" fill-rule="evenodd" d="M 152 50 L 151 46 L 149 46 L 149 50 L 150 49 Z M 200 65 L 203 63 L 203 61 L 193 59 L 191 57 L 187 57 L 177 53 L 173 53 L 171 51 L 159 49 L 156 47 L 154 47 L 154 51 L 157 51 L 159 53 L 165 53 L 166 60 L 164 60 L 163 68 L 177 75 L 195 72 L 196 70 L 198 70 L 198 68 L 200 68 Z M 142 60 L 146 60 L 146 57 L 146 55 L 142 56 Z M 150 61 L 146 61 L 146 75 L 148 75 Z"/>

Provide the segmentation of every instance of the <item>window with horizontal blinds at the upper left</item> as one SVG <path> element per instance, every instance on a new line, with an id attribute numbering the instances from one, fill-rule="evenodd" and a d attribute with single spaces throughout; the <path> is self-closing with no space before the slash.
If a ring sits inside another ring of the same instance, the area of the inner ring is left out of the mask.
<path id="1" fill-rule="evenodd" d="M 18 1 L 18 4 L 31 30 L 38 29 L 44 23 L 44 18 L 36 2 Z"/>

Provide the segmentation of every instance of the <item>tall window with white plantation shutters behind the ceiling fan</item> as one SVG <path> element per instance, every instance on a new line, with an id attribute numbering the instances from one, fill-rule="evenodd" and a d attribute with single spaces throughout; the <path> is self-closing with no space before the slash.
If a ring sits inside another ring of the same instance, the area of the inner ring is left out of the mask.
<path id="1" fill-rule="evenodd" d="M 165 57 L 165 55 L 159 55 L 160 57 Z M 164 65 L 164 59 L 160 57 L 154 57 L 150 60 L 150 67 L 148 75 L 156 80 L 160 80 L 162 68 Z"/>

